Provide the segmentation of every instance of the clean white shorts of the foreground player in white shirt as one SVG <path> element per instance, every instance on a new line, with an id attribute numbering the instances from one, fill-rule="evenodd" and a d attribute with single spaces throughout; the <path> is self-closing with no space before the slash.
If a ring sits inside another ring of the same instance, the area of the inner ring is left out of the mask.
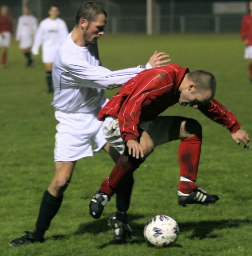
<path id="1" fill-rule="evenodd" d="M 54 160 L 70 162 L 93 156 L 106 144 L 102 122 L 97 119 L 100 109 L 91 113 L 55 111 L 58 120 L 55 135 Z"/>

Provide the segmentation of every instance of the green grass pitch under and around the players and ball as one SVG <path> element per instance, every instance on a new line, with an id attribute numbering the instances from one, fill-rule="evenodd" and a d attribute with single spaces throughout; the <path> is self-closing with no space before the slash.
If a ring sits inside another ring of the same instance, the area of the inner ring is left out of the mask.
<path id="1" fill-rule="evenodd" d="M 217 80 L 215 98 L 231 109 L 252 137 L 252 84 L 238 34 L 106 35 L 100 39 L 100 59 L 115 70 L 145 64 L 154 50 L 170 54 L 172 63 L 202 68 Z M 237 146 L 225 128 L 199 111 L 179 105 L 164 114 L 197 119 L 203 145 L 197 186 L 220 195 L 215 205 L 177 203 L 178 145 L 159 146 L 135 173 L 129 210 L 134 240 L 111 244 L 107 219 L 115 213 L 113 197 L 102 218 L 89 216 L 89 201 L 113 167 L 105 153 L 79 160 L 63 205 L 46 233 L 46 242 L 12 248 L 9 242 L 33 230 L 42 194 L 53 177 L 56 121 L 47 94 L 41 58 L 25 68 L 17 44 L 9 50 L 8 68 L 0 69 L 0 256 L 251 256 L 251 149 Z M 106 91 L 111 97 L 116 91 Z M 157 215 L 171 216 L 180 235 L 171 248 L 149 247 L 143 227 Z"/>

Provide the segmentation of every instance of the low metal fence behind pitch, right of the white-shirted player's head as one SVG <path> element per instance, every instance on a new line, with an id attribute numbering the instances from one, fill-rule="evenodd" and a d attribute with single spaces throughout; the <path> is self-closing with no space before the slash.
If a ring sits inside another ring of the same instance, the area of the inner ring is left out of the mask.
<path id="1" fill-rule="evenodd" d="M 180 15 L 160 17 L 160 33 L 237 33 L 243 15 Z M 106 32 L 146 33 L 146 16 L 108 18 Z"/>

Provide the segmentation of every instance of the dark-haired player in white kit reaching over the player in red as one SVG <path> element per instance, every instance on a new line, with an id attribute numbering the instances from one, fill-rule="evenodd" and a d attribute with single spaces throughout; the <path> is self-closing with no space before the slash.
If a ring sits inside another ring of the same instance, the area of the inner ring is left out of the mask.
<path id="1" fill-rule="evenodd" d="M 110 71 L 100 66 L 97 39 L 104 34 L 107 14 L 99 5 L 87 2 L 76 13 L 75 26 L 58 49 L 53 63 L 55 117 L 58 120 L 54 150 L 55 175 L 44 192 L 33 232 L 11 241 L 12 246 L 42 242 L 51 220 L 58 212 L 63 192 L 68 187 L 76 161 L 105 150 L 116 162 L 119 153 L 106 142 L 98 113 L 108 101 L 103 89 L 123 85 L 143 68 Z M 157 53 L 148 68 L 169 62 L 168 55 Z M 133 186 L 133 184 L 132 184 Z"/>

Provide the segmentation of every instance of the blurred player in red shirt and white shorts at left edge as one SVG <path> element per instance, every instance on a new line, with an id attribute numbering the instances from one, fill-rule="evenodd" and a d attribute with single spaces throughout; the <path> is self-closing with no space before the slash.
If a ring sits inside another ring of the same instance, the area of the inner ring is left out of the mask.
<path id="1" fill-rule="evenodd" d="M 0 12 L 0 48 L 2 53 L 2 68 L 6 68 L 7 52 L 13 35 L 12 17 L 8 14 L 8 6 L 2 5 Z"/>

